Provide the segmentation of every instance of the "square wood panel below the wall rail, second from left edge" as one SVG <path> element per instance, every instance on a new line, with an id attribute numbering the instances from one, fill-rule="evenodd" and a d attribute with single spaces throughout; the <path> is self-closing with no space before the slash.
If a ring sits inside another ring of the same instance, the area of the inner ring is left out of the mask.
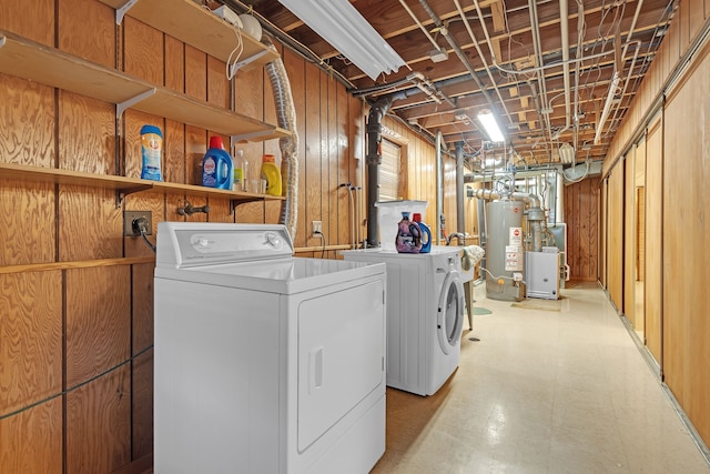
<path id="1" fill-rule="evenodd" d="M 67 271 L 67 386 L 129 357 L 130 282 L 129 266 Z"/>

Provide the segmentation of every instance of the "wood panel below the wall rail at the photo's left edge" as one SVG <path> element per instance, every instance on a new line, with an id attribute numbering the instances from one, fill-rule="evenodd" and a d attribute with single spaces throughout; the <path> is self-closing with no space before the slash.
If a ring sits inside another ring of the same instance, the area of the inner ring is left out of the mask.
<path id="1" fill-rule="evenodd" d="M 59 271 L 0 275 L 0 416 L 61 392 L 61 289 Z"/>

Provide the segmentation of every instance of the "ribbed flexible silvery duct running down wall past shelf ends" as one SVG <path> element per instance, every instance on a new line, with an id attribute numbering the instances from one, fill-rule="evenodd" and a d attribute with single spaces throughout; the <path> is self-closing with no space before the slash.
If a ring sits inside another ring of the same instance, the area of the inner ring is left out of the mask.
<path id="1" fill-rule="evenodd" d="M 273 44 L 270 44 L 274 48 Z M 291 83 L 281 57 L 266 64 L 266 73 L 271 81 L 276 105 L 278 127 L 291 132 L 278 140 L 281 149 L 281 177 L 284 196 L 281 204 L 280 223 L 286 225 L 291 239 L 296 238 L 298 213 L 298 132 L 296 130 L 296 110 L 291 93 Z"/>

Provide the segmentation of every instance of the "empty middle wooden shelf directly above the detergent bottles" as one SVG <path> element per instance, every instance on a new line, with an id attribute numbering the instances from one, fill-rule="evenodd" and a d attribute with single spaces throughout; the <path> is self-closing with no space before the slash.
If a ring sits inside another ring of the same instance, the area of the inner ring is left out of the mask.
<path id="1" fill-rule="evenodd" d="M 151 0 L 152 1 L 152 0 Z M 199 10 L 199 9 L 197 9 Z M 0 30 L 0 72 L 233 137 L 261 141 L 287 131 Z"/>

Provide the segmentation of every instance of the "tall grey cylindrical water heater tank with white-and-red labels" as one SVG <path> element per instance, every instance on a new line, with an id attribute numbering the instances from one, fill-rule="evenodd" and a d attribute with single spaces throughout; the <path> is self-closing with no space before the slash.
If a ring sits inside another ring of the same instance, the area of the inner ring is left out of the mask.
<path id="1" fill-rule="evenodd" d="M 491 201 L 486 205 L 486 296 L 493 300 L 520 301 L 525 297 L 521 281 L 525 260 L 523 212 L 520 201 Z"/>

